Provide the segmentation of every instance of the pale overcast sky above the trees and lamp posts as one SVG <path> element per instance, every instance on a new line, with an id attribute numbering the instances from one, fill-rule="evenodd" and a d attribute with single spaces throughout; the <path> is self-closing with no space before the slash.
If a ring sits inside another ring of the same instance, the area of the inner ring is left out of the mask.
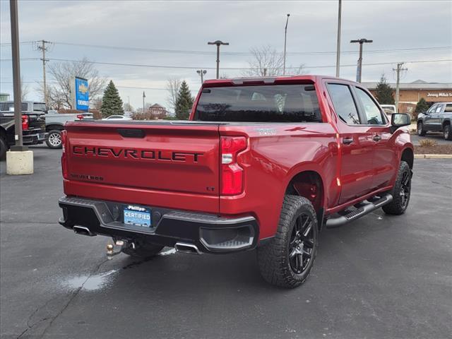
<path id="1" fill-rule="evenodd" d="M 9 1 L 0 1 L 0 11 L 0 90 L 12 94 Z M 145 90 L 147 102 L 167 105 L 168 78 L 185 79 L 195 95 L 201 83 L 196 68 L 207 69 L 205 78 L 215 77 L 215 46 L 208 46 L 208 41 L 230 43 L 222 51 L 233 53 L 220 57 L 220 75 L 228 77 L 242 75 L 243 71 L 230 68 L 246 68 L 251 59 L 246 53 L 251 47 L 269 44 L 283 51 L 287 13 L 287 65 L 304 64 L 307 73 L 334 75 L 338 1 L 20 1 L 19 36 L 21 42 L 54 42 L 47 53 L 49 59 L 87 57 L 110 63 L 193 67 L 96 65 L 103 76 L 114 81 L 124 102 L 130 99 L 133 107 L 141 107 Z M 358 45 L 350 44 L 350 40 L 365 37 L 374 42 L 364 45 L 362 81 L 378 81 L 385 73 L 388 82 L 394 82 L 393 67 L 405 61 L 408 71 L 403 73 L 402 82 L 452 82 L 451 61 L 408 62 L 452 59 L 452 1 L 344 0 L 342 13 L 344 53 L 340 64 L 345 66 L 340 70 L 341 77 L 355 80 Z M 39 58 L 40 52 L 33 47 L 22 44 L 21 59 Z M 378 52 L 381 50 L 390 52 Z M 331 53 L 299 54 L 302 52 Z M 381 63 L 391 64 L 365 65 Z M 39 59 L 23 60 L 20 67 L 30 88 L 36 87 L 33 82 L 42 81 Z M 32 90 L 28 100 L 42 97 Z"/>

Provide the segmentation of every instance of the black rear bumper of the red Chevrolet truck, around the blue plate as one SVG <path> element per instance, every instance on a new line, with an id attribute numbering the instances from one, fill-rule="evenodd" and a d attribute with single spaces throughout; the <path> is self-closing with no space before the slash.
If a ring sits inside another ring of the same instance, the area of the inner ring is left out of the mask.
<path id="1" fill-rule="evenodd" d="M 130 242 L 143 241 L 173 247 L 178 242 L 194 244 L 206 253 L 230 253 L 254 249 L 258 224 L 254 217 L 221 218 L 166 208 L 151 209 L 151 227 L 125 224 L 122 210 L 128 203 L 64 196 L 59 199 L 64 217 L 59 223 L 73 230 L 88 228 L 90 235 L 105 235 Z"/>

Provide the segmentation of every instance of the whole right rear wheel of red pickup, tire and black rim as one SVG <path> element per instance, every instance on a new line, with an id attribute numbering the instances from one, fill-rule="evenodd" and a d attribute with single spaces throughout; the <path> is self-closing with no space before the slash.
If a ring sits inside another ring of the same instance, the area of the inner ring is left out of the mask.
<path id="1" fill-rule="evenodd" d="M 286 288 L 304 283 L 316 258 L 318 237 L 311 202 L 301 196 L 285 196 L 275 237 L 257 249 L 263 279 Z"/>

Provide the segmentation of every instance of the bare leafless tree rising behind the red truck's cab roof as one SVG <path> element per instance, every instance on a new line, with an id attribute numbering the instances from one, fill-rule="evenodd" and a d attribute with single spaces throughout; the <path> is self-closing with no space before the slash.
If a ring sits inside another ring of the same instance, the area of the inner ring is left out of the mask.
<path id="1" fill-rule="evenodd" d="M 249 69 L 244 76 L 281 76 L 283 75 L 284 56 L 270 45 L 253 47 L 250 50 L 253 59 L 248 61 Z M 304 67 L 286 66 L 286 74 L 299 75 L 304 73 Z"/>

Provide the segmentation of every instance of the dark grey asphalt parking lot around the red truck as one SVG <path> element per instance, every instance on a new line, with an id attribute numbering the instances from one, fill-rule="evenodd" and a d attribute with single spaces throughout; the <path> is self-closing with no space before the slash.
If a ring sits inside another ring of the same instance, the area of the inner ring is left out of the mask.
<path id="1" fill-rule="evenodd" d="M 1 162 L 1 338 L 451 338 L 452 161 L 416 160 L 405 215 L 321 233 L 307 283 L 267 285 L 254 251 L 107 260 L 61 227 L 59 150 Z"/>

